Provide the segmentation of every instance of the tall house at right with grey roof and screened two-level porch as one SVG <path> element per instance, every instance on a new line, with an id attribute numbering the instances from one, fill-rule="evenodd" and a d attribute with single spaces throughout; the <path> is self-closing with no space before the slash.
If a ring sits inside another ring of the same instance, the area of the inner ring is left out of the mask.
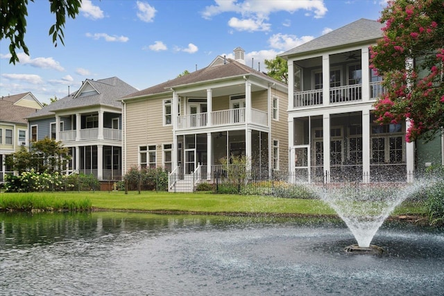
<path id="1" fill-rule="evenodd" d="M 382 27 L 359 19 L 280 54 L 289 66 L 290 171 L 296 180 L 411 181 L 426 165 L 443 164 L 442 137 L 427 148 L 405 141 L 408 121 L 374 122 L 373 104 L 383 88 L 382 77 L 369 68 L 369 46 L 382 37 Z M 435 153 L 426 152 L 431 148 Z"/>

